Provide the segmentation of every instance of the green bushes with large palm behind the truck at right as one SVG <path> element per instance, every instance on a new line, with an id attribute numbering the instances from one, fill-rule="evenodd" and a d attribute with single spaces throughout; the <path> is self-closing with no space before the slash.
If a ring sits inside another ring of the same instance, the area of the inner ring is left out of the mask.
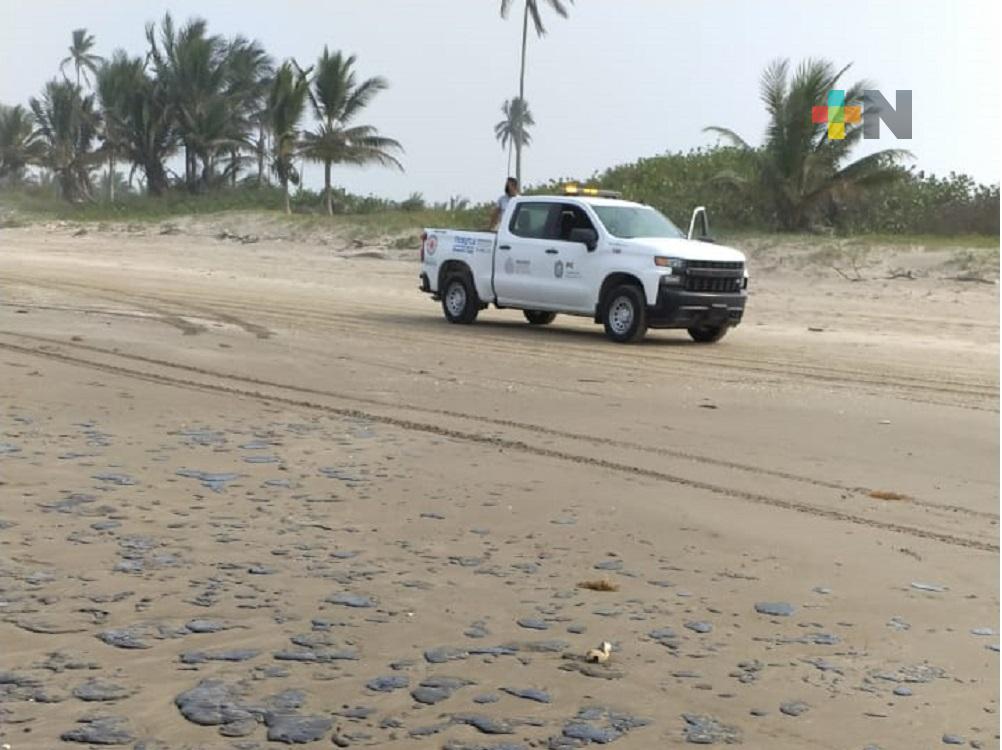
<path id="1" fill-rule="evenodd" d="M 997 183 L 978 184 L 955 173 L 927 175 L 900 148 L 854 159 L 862 124 L 846 123 L 844 137 L 830 138 L 827 123 L 813 121 L 813 106 L 829 91 L 841 89 L 847 105 L 861 105 L 863 92 L 875 87 L 866 80 L 844 83 L 848 70 L 823 59 L 796 67 L 776 60 L 761 79 L 769 117 L 759 145 L 729 128 L 709 126 L 706 132 L 719 136 L 714 147 L 642 158 L 573 181 L 621 190 L 677 221 L 686 220 L 692 206 L 704 205 L 728 228 L 998 234 Z"/>

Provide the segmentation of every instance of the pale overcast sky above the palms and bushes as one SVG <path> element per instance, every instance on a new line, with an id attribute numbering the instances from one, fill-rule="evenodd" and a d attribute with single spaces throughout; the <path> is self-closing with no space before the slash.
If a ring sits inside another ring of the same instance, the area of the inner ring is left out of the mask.
<path id="1" fill-rule="evenodd" d="M 520 6 L 520 0 L 515 5 Z M 279 60 L 304 64 L 325 44 L 383 75 L 363 121 L 400 140 L 403 174 L 341 168 L 356 192 L 430 199 L 496 195 L 507 157 L 494 139 L 501 103 L 517 91 L 520 17 L 498 0 L 0 0 L 0 101 L 27 103 L 57 74 L 70 31 L 85 26 L 97 52 L 145 51 L 143 25 L 169 10 L 201 16 L 215 33 L 261 40 Z M 529 40 L 526 99 L 535 116 L 526 181 L 586 176 L 665 150 L 709 145 L 706 125 L 759 142 L 759 77 L 776 57 L 853 63 L 894 102 L 914 91 L 913 139 L 882 139 L 860 153 L 906 147 L 920 168 L 999 181 L 997 0 L 700 2 L 577 0 L 570 18 L 545 13 Z M 308 183 L 322 179 L 307 165 Z"/>

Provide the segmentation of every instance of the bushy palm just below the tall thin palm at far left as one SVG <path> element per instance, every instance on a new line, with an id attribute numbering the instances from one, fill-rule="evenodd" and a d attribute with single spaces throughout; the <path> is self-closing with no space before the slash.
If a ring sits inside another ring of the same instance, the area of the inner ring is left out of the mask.
<path id="1" fill-rule="evenodd" d="M 90 172 L 102 159 L 90 148 L 99 122 L 94 97 L 81 96 L 79 86 L 69 81 L 52 80 L 41 98 L 29 103 L 42 143 L 41 163 L 53 171 L 66 200 L 89 200 Z"/>

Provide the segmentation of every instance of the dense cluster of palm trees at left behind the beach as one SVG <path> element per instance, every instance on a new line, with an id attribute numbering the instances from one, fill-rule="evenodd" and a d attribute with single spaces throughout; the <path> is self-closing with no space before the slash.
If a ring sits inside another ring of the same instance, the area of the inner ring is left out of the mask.
<path id="1" fill-rule="evenodd" d="M 300 183 L 297 161 L 324 165 L 324 206 L 333 212 L 332 169 L 338 164 L 403 168 L 401 144 L 359 122 L 387 88 L 361 78 L 357 60 L 327 47 L 316 63 L 276 65 L 265 48 L 242 36 L 210 34 L 202 19 L 175 25 L 169 13 L 145 29 L 146 54 L 94 52 L 86 29 L 72 33 L 62 77 L 37 97 L 0 107 L 0 181 L 17 183 L 30 166 L 47 169 L 68 201 L 96 198 L 93 173 L 106 164 L 114 200 L 118 165 L 160 195 L 172 184 L 193 192 L 261 185 L 274 174 L 286 210 L 289 186 Z M 73 77 L 66 73 L 72 67 Z M 308 110 L 316 124 L 303 128 Z M 168 160 L 182 156 L 183 173 Z"/>

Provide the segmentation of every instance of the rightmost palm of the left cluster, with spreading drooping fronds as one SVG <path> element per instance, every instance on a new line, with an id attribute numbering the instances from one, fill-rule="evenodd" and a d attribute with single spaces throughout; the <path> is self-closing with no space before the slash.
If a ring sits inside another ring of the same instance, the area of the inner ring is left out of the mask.
<path id="1" fill-rule="evenodd" d="M 373 97 L 388 86 L 386 80 L 379 76 L 356 82 L 354 67 L 354 55 L 331 54 L 325 46 L 324 54 L 317 61 L 310 91 L 310 101 L 319 124 L 313 132 L 303 136 L 302 148 L 307 158 L 324 163 L 324 203 L 328 214 L 334 213 L 331 193 L 333 164 L 376 163 L 396 166 L 401 170 L 404 168 L 391 153 L 403 151 L 400 143 L 380 135 L 372 125 L 352 124 Z"/>

